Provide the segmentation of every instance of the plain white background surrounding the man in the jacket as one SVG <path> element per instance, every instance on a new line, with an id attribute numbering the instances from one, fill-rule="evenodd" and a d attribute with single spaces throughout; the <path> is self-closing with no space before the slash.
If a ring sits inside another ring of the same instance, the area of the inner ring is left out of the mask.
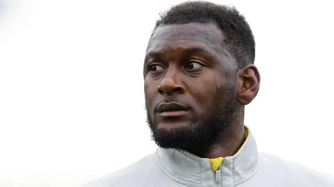
<path id="1" fill-rule="evenodd" d="M 0 0 L 0 186 L 72 187 L 154 152 L 143 57 L 181 1 Z M 331 1 L 214 1 L 255 35 L 258 149 L 334 175 Z"/>

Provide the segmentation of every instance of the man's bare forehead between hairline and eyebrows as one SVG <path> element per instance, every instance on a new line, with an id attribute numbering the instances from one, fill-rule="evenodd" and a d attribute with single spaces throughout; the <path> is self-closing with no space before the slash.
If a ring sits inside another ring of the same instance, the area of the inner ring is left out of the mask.
<path id="1" fill-rule="evenodd" d="M 168 24 L 158 26 L 147 53 L 176 48 L 202 48 L 208 53 L 226 53 L 224 35 L 216 24 Z"/>

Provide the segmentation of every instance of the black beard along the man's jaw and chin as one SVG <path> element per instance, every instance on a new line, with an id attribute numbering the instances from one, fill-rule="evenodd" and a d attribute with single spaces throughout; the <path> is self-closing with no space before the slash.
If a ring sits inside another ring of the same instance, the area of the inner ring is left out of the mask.
<path id="1" fill-rule="evenodd" d="M 159 147 L 185 150 L 200 157 L 230 126 L 236 115 L 237 99 L 234 96 L 234 86 L 228 87 L 216 95 L 211 110 L 207 110 L 200 118 L 189 121 L 189 124 L 169 130 L 159 128 L 152 121 L 148 106 L 146 111 L 152 139 Z"/>

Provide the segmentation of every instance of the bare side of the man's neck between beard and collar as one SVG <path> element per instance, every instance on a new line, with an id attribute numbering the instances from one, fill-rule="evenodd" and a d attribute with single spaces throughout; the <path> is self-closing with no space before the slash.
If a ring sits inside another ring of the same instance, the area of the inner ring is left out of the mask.
<path id="1" fill-rule="evenodd" d="M 241 107 L 232 123 L 220 134 L 217 141 L 203 155 L 198 156 L 210 159 L 232 156 L 241 148 L 245 139 L 244 107 Z"/>

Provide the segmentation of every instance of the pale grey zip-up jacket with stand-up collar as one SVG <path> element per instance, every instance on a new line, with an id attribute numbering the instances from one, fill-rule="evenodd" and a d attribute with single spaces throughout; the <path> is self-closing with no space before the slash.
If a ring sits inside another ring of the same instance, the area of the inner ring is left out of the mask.
<path id="1" fill-rule="evenodd" d="M 216 171 L 212 170 L 209 159 L 185 151 L 158 148 L 157 152 L 132 166 L 84 187 L 114 186 L 334 187 L 334 179 L 272 155 L 258 153 L 255 139 L 248 132 L 239 151 L 224 157 Z"/>

